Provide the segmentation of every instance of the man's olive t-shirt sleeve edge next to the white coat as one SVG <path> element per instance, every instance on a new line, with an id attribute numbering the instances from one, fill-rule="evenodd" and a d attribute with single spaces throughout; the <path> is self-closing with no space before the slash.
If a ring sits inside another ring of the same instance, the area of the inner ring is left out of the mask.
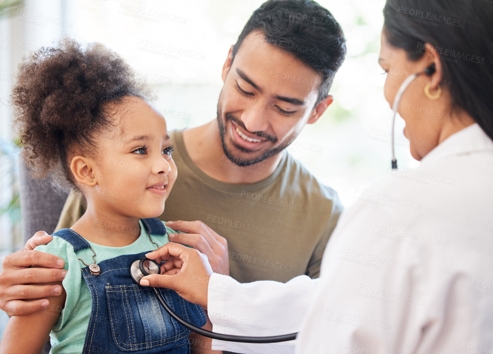
<path id="1" fill-rule="evenodd" d="M 318 240 L 317 246 L 315 247 L 312 257 L 310 258 L 310 262 L 308 263 L 305 273 L 312 279 L 316 279 L 320 276 L 320 266 L 322 264 L 322 257 L 325 247 L 327 246 L 329 238 L 332 235 L 332 232 L 334 232 L 337 222 L 339 221 L 339 217 L 344 209 L 337 193 L 335 193 L 335 191 L 333 191 L 333 193 L 334 195 L 331 197 L 332 209 L 330 210 L 330 215 L 327 215 L 327 231 Z"/>

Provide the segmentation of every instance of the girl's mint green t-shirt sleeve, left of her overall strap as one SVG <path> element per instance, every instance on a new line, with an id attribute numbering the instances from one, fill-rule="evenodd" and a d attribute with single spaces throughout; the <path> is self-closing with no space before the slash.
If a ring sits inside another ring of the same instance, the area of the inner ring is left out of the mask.
<path id="1" fill-rule="evenodd" d="M 67 293 L 64 308 L 60 313 L 58 321 L 53 327 L 59 330 L 67 322 L 71 315 L 74 315 L 75 304 L 80 296 L 80 286 L 82 281 L 82 272 L 80 271 L 80 261 L 78 260 L 72 245 L 60 237 L 53 237 L 53 240 L 47 245 L 37 246 L 36 251 L 41 251 L 58 256 L 65 260 L 64 269 L 67 270 L 67 275 L 62 281 L 62 285 Z"/>

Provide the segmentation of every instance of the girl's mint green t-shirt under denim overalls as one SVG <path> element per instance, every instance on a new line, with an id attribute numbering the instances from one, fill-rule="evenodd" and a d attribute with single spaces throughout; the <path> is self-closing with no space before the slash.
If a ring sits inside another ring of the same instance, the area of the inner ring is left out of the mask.
<path id="1" fill-rule="evenodd" d="M 166 222 L 163 221 L 163 224 L 166 225 Z M 86 240 L 96 253 L 96 263 L 121 255 L 132 255 L 156 249 L 156 245 L 150 242 L 142 221 L 139 221 L 139 225 L 141 226 L 139 238 L 128 246 L 101 246 Z M 168 226 L 166 226 L 166 230 L 168 234 L 177 233 Z M 151 238 L 159 247 L 170 242 L 168 235 L 151 235 Z M 81 258 L 86 264 L 90 264 L 93 262 L 93 252 L 90 248 L 86 248 L 76 255 L 73 246 L 60 237 L 53 237 L 50 243 L 37 246 L 35 250 L 62 258 L 65 260 L 64 269 L 67 269 L 67 275 L 62 282 L 67 292 L 67 299 L 65 300 L 65 307 L 50 333 L 50 353 L 80 354 L 84 347 L 87 326 L 91 317 L 92 298 L 80 270 L 84 264 L 78 258 Z"/>

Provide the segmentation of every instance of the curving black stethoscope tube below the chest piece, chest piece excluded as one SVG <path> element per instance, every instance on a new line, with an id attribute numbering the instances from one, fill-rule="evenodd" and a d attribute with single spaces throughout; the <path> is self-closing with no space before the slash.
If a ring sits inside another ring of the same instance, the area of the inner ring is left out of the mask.
<path id="1" fill-rule="evenodd" d="M 279 336 L 249 337 L 249 336 L 235 336 L 235 335 L 211 332 L 211 331 L 208 331 L 207 329 L 203 329 L 203 328 L 200 328 L 200 327 L 193 325 L 192 323 L 186 322 L 181 317 L 176 315 L 175 311 L 172 310 L 172 308 L 168 305 L 168 303 L 164 299 L 161 291 L 157 290 L 156 288 L 152 288 L 152 289 L 154 289 L 154 292 L 156 293 L 156 297 L 159 300 L 159 302 L 161 303 L 161 305 L 164 307 L 164 309 L 170 314 L 170 316 L 176 322 L 181 324 L 183 327 L 188 328 L 191 331 L 194 331 L 197 334 L 203 335 L 204 337 L 208 337 L 208 338 L 212 338 L 212 339 L 219 339 L 219 340 L 228 341 L 228 342 L 277 343 L 277 342 L 285 342 L 285 341 L 290 341 L 290 340 L 296 339 L 296 335 L 298 334 L 298 333 L 289 333 L 289 334 L 282 334 Z"/>

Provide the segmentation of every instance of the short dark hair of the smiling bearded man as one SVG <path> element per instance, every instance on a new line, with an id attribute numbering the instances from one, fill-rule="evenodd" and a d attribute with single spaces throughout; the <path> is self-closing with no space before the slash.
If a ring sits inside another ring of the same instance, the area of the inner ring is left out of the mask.
<path id="1" fill-rule="evenodd" d="M 233 47 L 233 61 L 245 37 L 261 31 L 266 43 L 312 67 L 321 77 L 315 105 L 327 97 L 334 75 L 344 62 L 346 38 L 341 25 L 311 0 L 269 0 L 253 11 Z"/>

